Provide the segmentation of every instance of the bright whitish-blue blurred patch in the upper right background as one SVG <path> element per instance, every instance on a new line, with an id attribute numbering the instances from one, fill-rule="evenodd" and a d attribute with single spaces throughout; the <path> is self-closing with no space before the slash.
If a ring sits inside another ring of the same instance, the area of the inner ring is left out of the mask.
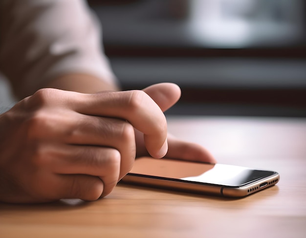
<path id="1" fill-rule="evenodd" d="M 304 0 L 190 0 L 190 36 L 209 47 L 295 43 L 304 34 Z"/>

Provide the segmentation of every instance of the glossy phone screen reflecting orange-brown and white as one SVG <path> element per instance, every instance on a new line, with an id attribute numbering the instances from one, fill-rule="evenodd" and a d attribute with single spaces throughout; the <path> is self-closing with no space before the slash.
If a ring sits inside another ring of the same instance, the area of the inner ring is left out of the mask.
<path id="1" fill-rule="evenodd" d="M 206 164 L 173 159 L 139 158 L 130 173 L 239 187 L 275 174 L 223 164 Z"/>

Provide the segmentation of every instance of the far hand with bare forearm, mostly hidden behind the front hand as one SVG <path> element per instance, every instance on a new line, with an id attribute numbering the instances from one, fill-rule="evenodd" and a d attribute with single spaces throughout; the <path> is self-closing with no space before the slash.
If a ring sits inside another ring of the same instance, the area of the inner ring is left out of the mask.
<path id="1" fill-rule="evenodd" d="M 105 81 L 94 78 L 90 75 L 67 74 L 53 81 L 48 82 L 46 87 L 61 88 L 69 91 L 78 91 L 83 93 L 96 92 L 97 88 L 116 90 L 115 85 L 106 85 Z M 162 109 L 167 110 L 172 107 L 180 98 L 180 88 L 174 84 L 163 83 L 156 84 L 143 89 Z M 149 155 L 144 145 L 143 133 L 135 130 L 137 156 Z M 188 143 L 168 135 L 168 153 L 169 158 L 199 160 L 215 163 L 215 159 L 202 146 L 194 143 Z"/>

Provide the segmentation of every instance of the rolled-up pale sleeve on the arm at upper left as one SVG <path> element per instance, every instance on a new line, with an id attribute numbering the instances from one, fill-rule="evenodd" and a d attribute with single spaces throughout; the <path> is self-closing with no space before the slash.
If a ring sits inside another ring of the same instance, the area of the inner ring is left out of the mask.
<path id="1" fill-rule="evenodd" d="M 18 96 L 73 72 L 114 81 L 85 0 L 0 0 L 0 70 Z"/>

